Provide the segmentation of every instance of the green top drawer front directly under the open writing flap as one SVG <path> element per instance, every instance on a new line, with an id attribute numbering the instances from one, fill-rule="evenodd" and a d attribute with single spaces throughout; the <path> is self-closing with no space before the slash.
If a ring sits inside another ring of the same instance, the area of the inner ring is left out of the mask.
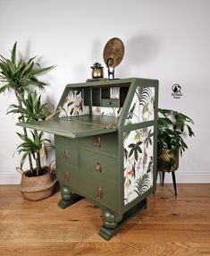
<path id="1" fill-rule="evenodd" d="M 71 147 L 93 150 L 116 157 L 118 145 L 117 140 L 116 132 L 78 139 L 55 136 L 55 147 L 57 147 L 57 144 L 64 143 L 66 145 L 70 145 Z"/>

